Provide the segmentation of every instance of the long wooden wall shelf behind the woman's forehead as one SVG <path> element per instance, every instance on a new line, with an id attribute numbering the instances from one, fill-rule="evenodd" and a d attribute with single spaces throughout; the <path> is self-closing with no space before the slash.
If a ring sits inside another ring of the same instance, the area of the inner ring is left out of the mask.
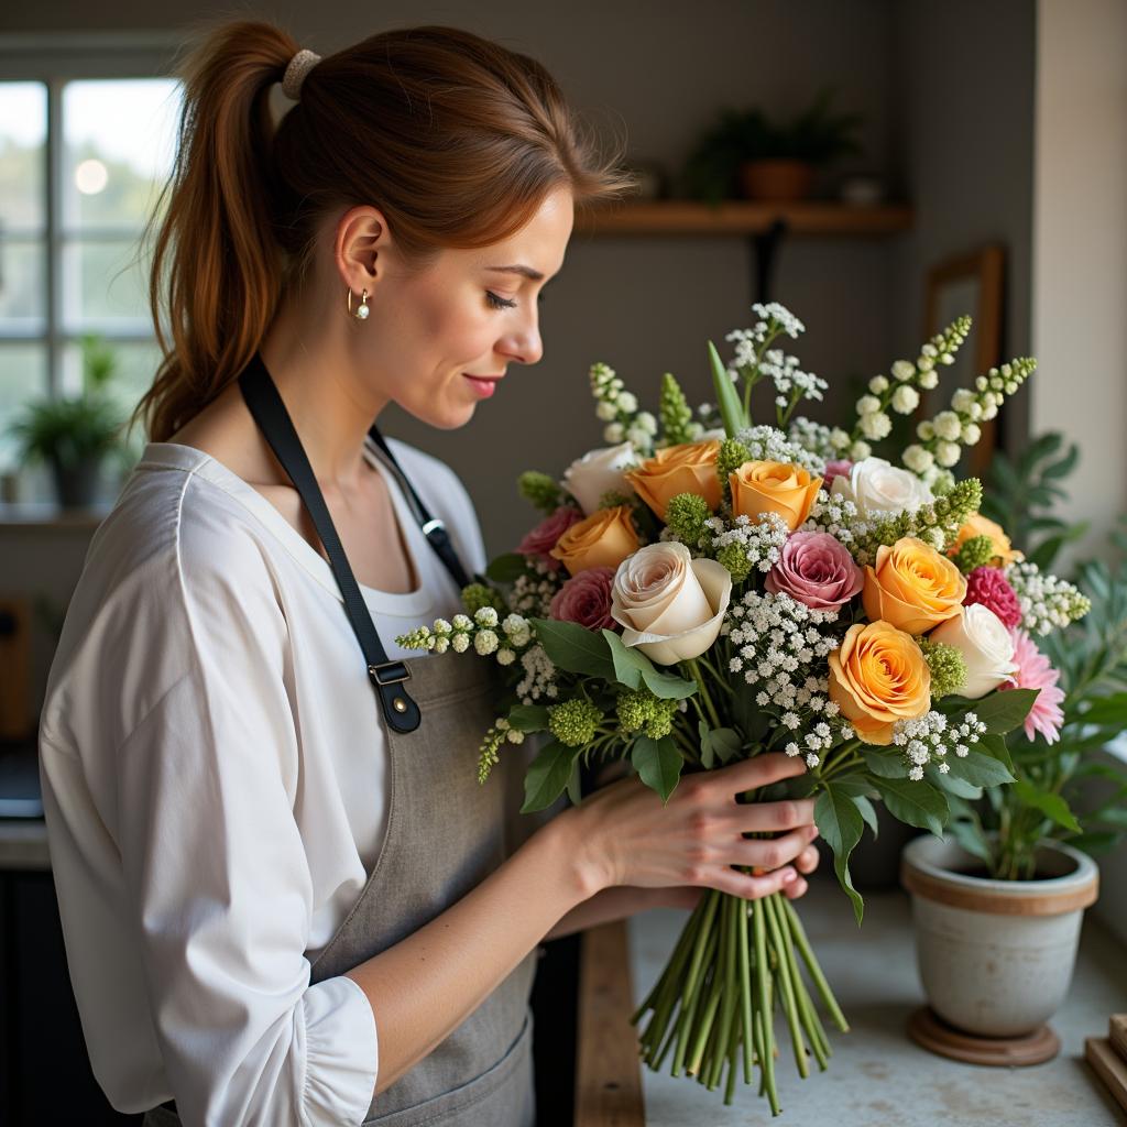
<path id="1" fill-rule="evenodd" d="M 882 236 L 912 225 L 907 204 L 731 201 L 716 206 L 691 199 L 611 205 L 577 216 L 576 232 L 593 236 L 766 234 L 777 221 L 788 234 Z"/>

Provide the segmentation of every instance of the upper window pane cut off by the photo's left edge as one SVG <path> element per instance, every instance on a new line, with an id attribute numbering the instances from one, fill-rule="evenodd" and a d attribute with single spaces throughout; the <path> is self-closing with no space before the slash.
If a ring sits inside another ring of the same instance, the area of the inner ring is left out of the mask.
<path id="1" fill-rule="evenodd" d="M 46 144 L 47 88 L 0 82 L 0 239 L 43 230 Z"/>

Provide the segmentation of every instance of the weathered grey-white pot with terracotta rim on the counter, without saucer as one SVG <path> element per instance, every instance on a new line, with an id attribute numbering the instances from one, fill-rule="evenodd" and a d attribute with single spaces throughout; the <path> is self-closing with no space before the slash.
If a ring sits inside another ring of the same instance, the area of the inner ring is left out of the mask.
<path id="1" fill-rule="evenodd" d="M 1037 852 L 1037 880 L 969 876 L 980 862 L 928 834 L 907 844 L 900 880 L 912 894 L 916 956 L 932 1010 L 979 1037 L 1033 1032 L 1072 980 L 1084 908 L 1099 869 L 1057 842 Z"/>

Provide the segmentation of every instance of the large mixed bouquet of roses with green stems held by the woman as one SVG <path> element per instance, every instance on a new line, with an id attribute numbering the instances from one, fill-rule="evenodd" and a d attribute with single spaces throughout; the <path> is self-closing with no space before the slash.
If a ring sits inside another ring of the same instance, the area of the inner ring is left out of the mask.
<path id="1" fill-rule="evenodd" d="M 655 415 L 594 365 L 609 446 L 562 481 L 523 474 L 542 523 L 490 565 L 488 583 L 463 592 L 465 614 L 397 640 L 473 650 L 509 671 L 478 773 L 483 782 L 506 742 L 545 733 L 526 811 L 565 791 L 579 802 L 579 767 L 593 760 L 624 762 L 667 800 L 695 772 L 765 752 L 801 756 L 801 777 L 742 800 L 816 796 L 860 923 L 849 858 L 866 824 L 876 832 L 873 800 L 939 834 L 949 798 L 1013 778 L 1004 736 L 1037 692 L 1012 687 L 1004 616 L 1012 583 L 1038 573 L 1027 562 L 975 578 L 1005 561 L 976 523 L 979 482 L 951 468 L 1035 364 L 1015 360 L 957 392 L 894 465 L 871 445 L 891 431 L 889 408 L 917 410 L 969 318 L 875 376 L 845 429 L 796 416 L 827 384 L 777 346 L 802 331 L 798 319 L 779 304 L 753 309 L 754 327 L 728 337 L 730 365 L 709 344 L 717 403 L 695 414 L 672 375 Z M 773 424 L 756 425 L 753 389 L 767 382 Z M 1056 624 L 1086 610 L 1074 587 L 1053 592 Z M 648 1015 L 642 1057 L 709 1089 L 722 1083 L 726 1102 L 740 1073 L 752 1083 L 757 1070 L 778 1113 L 777 1009 L 799 1075 L 811 1058 L 824 1070 L 822 1013 L 848 1024 L 798 912 L 781 894 L 710 889 L 635 1015 Z"/>

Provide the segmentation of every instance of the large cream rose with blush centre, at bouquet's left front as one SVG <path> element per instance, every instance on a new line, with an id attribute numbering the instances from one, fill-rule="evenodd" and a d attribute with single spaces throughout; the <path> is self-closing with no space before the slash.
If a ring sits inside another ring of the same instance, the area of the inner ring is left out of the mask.
<path id="1" fill-rule="evenodd" d="M 648 544 L 620 565 L 611 618 L 622 641 L 658 665 L 700 657 L 720 635 L 731 600 L 731 574 L 681 543 Z"/>

